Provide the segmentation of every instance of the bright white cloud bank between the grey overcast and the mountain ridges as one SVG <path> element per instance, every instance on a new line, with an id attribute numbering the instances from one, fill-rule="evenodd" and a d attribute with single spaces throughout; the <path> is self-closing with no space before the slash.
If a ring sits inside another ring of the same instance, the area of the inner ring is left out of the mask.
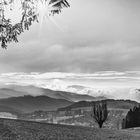
<path id="1" fill-rule="evenodd" d="M 139 101 L 140 71 L 98 71 L 95 73 L 31 72 L 1 73 L 0 87 L 35 86 L 52 90 Z M 83 87 L 82 89 L 75 88 Z M 70 88 L 69 88 L 70 87 Z M 38 94 L 38 93 L 36 93 Z"/>

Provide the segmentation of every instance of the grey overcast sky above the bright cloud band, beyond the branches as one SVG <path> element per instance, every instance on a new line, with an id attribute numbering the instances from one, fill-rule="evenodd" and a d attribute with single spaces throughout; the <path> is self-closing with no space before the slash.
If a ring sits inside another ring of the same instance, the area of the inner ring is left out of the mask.
<path id="1" fill-rule="evenodd" d="M 139 0 L 68 0 L 71 7 L 34 24 L 0 49 L 0 73 L 140 70 Z"/>

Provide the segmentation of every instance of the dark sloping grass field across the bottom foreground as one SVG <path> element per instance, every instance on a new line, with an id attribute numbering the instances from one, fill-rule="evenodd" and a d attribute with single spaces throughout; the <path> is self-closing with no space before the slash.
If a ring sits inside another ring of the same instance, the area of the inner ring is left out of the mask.
<path id="1" fill-rule="evenodd" d="M 140 130 L 111 130 L 0 119 L 0 140 L 140 140 Z"/>

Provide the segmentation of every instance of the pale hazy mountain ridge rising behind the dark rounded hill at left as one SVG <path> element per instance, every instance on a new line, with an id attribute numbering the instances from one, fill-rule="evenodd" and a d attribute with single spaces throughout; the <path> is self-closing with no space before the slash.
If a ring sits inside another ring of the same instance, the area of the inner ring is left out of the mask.
<path id="1" fill-rule="evenodd" d="M 46 95 L 48 97 L 51 98 L 55 98 L 55 99 L 65 99 L 68 101 L 97 101 L 97 100 L 102 100 L 105 99 L 104 97 L 93 97 L 90 95 L 86 95 L 86 94 L 76 94 L 76 93 L 71 93 L 71 92 L 64 92 L 64 91 L 54 91 L 54 90 L 50 90 L 50 89 L 46 89 L 46 88 L 39 88 L 39 87 L 35 87 L 35 86 L 19 86 L 19 85 L 9 85 L 7 86 L 5 89 L 7 89 L 7 93 L 10 92 L 10 90 L 14 90 L 17 93 L 23 93 L 23 94 L 19 94 L 19 95 L 33 95 L 33 96 L 37 96 L 37 95 Z M 0 91 L 1 93 L 1 91 Z M 14 94 L 14 93 L 13 93 Z M 10 95 L 12 95 L 12 93 L 10 93 Z"/>

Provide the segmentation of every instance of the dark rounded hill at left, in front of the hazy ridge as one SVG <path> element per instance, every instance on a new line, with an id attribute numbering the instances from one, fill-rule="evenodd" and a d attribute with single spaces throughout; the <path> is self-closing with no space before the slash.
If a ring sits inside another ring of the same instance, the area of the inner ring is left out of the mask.
<path id="1" fill-rule="evenodd" d="M 72 103 L 73 102 L 64 99 L 53 99 L 47 96 L 26 95 L 21 97 L 0 99 L 0 107 L 2 107 L 0 110 L 5 112 L 8 110 L 13 110 L 14 112 L 19 111 L 21 113 L 28 113 L 37 110 L 50 111 L 71 105 Z"/>

